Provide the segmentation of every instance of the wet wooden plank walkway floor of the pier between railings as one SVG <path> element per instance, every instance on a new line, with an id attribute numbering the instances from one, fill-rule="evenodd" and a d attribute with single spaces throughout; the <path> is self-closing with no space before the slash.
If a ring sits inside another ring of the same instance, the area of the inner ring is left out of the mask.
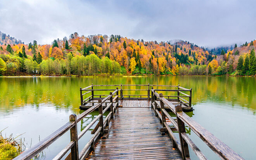
<path id="1" fill-rule="evenodd" d="M 170 137 L 161 135 L 151 108 L 118 108 L 109 127 L 108 137 L 99 140 L 90 159 L 182 159 Z"/>

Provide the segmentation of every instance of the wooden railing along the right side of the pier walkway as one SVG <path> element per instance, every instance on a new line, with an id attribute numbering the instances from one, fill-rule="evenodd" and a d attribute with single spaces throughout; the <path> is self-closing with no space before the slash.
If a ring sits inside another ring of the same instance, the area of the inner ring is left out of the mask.
<path id="1" fill-rule="evenodd" d="M 180 87 L 180 89 L 185 90 L 182 87 Z M 229 146 L 221 142 L 221 140 L 211 134 L 208 130 L 204 129 L 204 127 L 200 126 L 200 124 L 190 118 L 186 113 L 184 113 L 182 111 L 181 105 L 173 105 L 173 103 L 167 100 L 163 96 L 163 94 L 158 94 L 155 91 L 159 90 L 151 89 L 151 107 L 155 112 L 155 116 L 158 116 L 160 121 L 162 122 L 163 128 L 161 130 L 168 133 L 173 142 L 173 147 L 178 148 L 178 150 L 181 151 L 183 159 L 189 158 L 188 146 L 191 147 L 191 149 L 194 151 L 199 159 L 207 159 L 202 151 L 199 150 L 194 142 L 192 142 L 191 138 L 189 138 L 186 134 L 185 124 L 221 159 L 243 159 L 241 156 L 239 156 L 239 154 L 229 148 Z M 160 103 L 156 100 L 159 100 Z M 160 106 L 161 113 L 157 109 L 157 106 Z M 173 111 L 173 113 L 175 113 L 176 120 L 170 116 L 170 114 L 165 110 L 164 106 L 168 106 L 168 108 Z M 173 129 L 168 126 L 166 119 L 169 119 L 171 121 L 171 123 L 175 127 L 175 130 L 178 130 L 180 141 L 178 141 L 178 138 L 176 138 L 175 134 L 173 134 Z"/>

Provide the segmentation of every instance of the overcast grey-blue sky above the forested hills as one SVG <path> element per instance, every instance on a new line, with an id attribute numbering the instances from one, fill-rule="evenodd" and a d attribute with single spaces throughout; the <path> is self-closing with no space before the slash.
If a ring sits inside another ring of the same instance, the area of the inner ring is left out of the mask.
<path id="1" fill-rule="evenodd" d="M 217 47 L 256 38 L 255 7 L 254 0 L 0 0 L 0 31 L 25 44 L 78 32 Z"/>

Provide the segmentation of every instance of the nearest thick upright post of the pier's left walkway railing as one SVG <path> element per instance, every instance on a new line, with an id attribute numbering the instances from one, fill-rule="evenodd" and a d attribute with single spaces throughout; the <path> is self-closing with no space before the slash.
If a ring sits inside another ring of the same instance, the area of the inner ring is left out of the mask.
<path id="1" fill-rule="evenodd" d="M 75 121 L 75 126 L 70 129 L 70 141 L 75 142 L 75 144 L 71 148 L 71 156 L 72 159 L 79 159 L 78 154 L 78 135 L 77 135 L 77 121 L 76 121 L 76 114 L 71 114 L 69 116 L 69 121 Z"/>

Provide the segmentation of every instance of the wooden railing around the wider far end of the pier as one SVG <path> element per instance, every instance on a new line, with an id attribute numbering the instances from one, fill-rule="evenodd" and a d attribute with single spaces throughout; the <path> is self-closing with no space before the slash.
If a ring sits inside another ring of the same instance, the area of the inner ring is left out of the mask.
<path id="1" fill-rule="evenodd" d="M 80 88 L 80 101 L 81 106 L 94 104 L 94 100 L 104 98 L 105 94 L 102 92 L 112 91 L 115 89 L 102 89 L 101 87 L 119 87 L 120 100 L 151 100 L 151 87 L 155 87 L 156 91 L 167 92 L 165 95 L 167 100 L 175 101 L 175 104 L 183 104 L 191 107 L 192 101 L 192 89 L 186 89 L 184 87 L 170 86 L 170 85 L 156 85 L 156 84 L 113 84 L 113 85 L 93 85 Z M 165 89 L 160 89 L 164 87 Z M 101 94 L 97 94 L 101 92 Z M 91 93 L 91 94 L 90 94 Z M 84 98 L 86 97 L 86 98 Z"/>

